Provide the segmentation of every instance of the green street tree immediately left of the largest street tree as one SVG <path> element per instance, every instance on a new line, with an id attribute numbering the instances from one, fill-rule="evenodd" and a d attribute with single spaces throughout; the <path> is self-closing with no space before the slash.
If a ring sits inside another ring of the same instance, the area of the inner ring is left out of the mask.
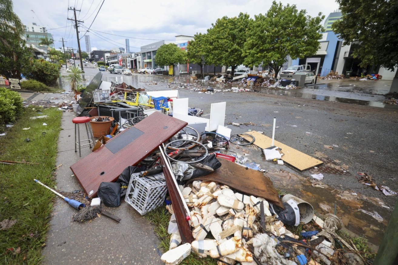
<path id="1" fill-rule="evenodd" d="M 240 13 L 237 17 L 224 16 L 211 24 L 203 45 L 205 62 L 231 66 L 233 73 L 244 61 L 244 44 L 248 37 L 249 22 L 249 15 Z"/>

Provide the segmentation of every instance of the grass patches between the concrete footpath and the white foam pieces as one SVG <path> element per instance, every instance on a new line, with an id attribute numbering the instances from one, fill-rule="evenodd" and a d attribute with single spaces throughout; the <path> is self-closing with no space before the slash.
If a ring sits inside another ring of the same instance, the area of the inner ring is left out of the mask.
<path id="1" fill-rule="evenodd" d="M 154 223 L 155 234 L 158 236 L 160 243 L 158 248 L 162 253 L 169 250 L 170 234 L 167 232 L 169 226 L 169 219 L 171 214 L 166 210 L 164 205 L 150 211 L 145 217 Z M 217 261 L 211 257 L 200 258 L 191 252 L 191 255 L 186 257 L 181 263 L 182 265 L 217 265 Z"/>

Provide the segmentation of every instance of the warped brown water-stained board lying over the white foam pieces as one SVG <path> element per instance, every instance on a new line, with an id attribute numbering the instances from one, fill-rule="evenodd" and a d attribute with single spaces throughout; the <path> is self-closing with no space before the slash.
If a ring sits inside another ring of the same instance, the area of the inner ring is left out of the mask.
<path id="1" fill-rule="evenodd" d="M 205 176 L 191 178 L 189 182 L 194 180 L 219 182 L 248 195 L 262 197 L 283 208 L 272 181 L 267 176 L 264 176 L 263 173 L 250 168 L 246 169 L 244 166 L 240 166 L 225 159 L 220 159 L 220 162 L 221 167 L 215 172 Z"/>

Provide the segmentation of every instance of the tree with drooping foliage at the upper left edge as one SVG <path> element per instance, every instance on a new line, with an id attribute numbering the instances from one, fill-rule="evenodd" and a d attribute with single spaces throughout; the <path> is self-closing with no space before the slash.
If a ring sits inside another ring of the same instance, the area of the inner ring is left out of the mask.
<path id="1" fill-rule="evenodd" d="M 21 78 L 23 67 L 33 57 L 32 49 L 23 39 L 23 25 L 13 11 L 11 0 L 0 1 L 0 74 Z"/>

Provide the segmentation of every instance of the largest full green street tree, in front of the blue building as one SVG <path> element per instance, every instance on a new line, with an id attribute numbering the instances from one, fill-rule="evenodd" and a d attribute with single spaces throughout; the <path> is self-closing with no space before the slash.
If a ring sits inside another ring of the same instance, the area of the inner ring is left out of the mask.
<path id="1" fill-rule="evenodd" d="M 247 35 L 244 64 L 269 64 L 276 77 L 288 55 L 294 60 L 317 52 L 323 29 L 320 23 L 325 17 L 321 13 L 310 17 L 306 10 L 298 11 L 296 5 L 283 6 L 273 1 L 265 15 L 254 17 L 250 28 L 255 30 Z"/>

